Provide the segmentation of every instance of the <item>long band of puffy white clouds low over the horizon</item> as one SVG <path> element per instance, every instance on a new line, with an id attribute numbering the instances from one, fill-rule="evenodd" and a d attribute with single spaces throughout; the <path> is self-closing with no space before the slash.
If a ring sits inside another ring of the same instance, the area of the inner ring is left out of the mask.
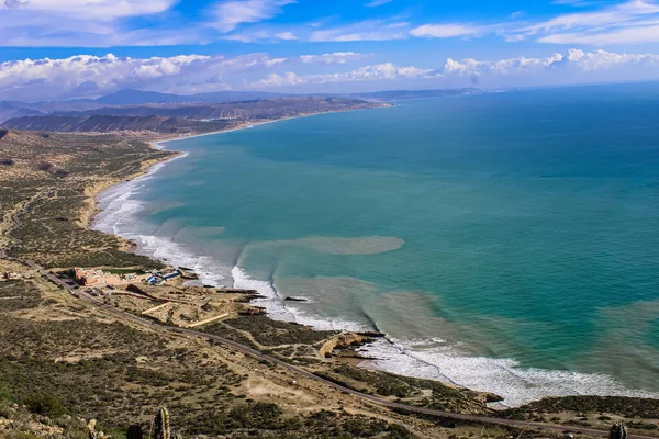
<path id="1" fill-rule="evenodd" d="M 221 90 L 322 92 L 328 87 L 485 88 L 659 79 L 659 55 L 572 48 L 546 57 L 437 60 L 436 67 L 364 64 L 372 54 L 327 53 L 291 57 L 249 54 L 131 58 L 78 55 L 0 64 L 0 94 L 7 100 L 88 98 L 135 88 L 192 94 Z M 309 70 L 313 68 L 313 70 Z M 316 72 L 315 69 L 322 69 Z"/>

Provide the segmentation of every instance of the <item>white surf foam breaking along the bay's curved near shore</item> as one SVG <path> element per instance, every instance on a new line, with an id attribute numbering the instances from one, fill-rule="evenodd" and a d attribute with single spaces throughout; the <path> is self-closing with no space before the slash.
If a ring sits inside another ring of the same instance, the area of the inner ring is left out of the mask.
<path id="1" fill-rule="evenodd" d="M 93 228 L 120 235 L 137 245 L 137 252 L 154 257 L 171 264 L 192 268 L 203 284 L 223 286 L 233 283 L 235 288 L 256 290 L 264 299 L 254 302 L 268 309 L 270 317 L 313 326 L 321 330 L 371 330 L 368 324 L 348 322 L 340 318 L 325 318 L 313 312 L 287 303 L 269 282 L 252 279 L 243 269 L 233 267 L 232 279 L 228 267 L 211 256 L 200 256 L 194 249 L 174 241 L 171 238 L 139 233 L 138 217 L 145 204 L 134 195 L 143 190 L 145 180 L 153 177 L 165 164 L 153 167 L 148 175 L 119 184 L 99 196 L 103 209 Z M 524 369 L 512 359 L 492 359 L 458 353 L 446 347 L 428 348 L 428 341 L 414 339 L 379 339 L 361 349 L 365 356 L 375 358 L 369 367 L 392 373 L 439 380 L 465 387 L 492 392 L 505 397 L 505 406 L 518 406 L 546 396 L 566 395 L 619 395 L 659 398 L 659 394 L 625 389 L 613 378 L 602 374 L 585 374 L 569 371 Z"/>

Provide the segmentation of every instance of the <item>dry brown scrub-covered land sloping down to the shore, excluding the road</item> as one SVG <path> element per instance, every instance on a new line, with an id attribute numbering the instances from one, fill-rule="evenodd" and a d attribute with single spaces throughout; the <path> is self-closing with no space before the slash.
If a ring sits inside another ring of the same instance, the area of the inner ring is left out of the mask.
<path id="1" fill-rule="evenodd" d="M 161 325 L 198 327 L 303 367 L 347 389 L 409 405 L 493 415 L 493 395 L 442 383 L 355 368 L 335 349 L 364 335 L 314 331 L 273 322 L 249 305 L 249 294 L 174 286 L 148 288 L 150 297 L 113 294 L 94 306 L 22 261 L 53 270 L 72 266 L 149 268 L 158 262 L 125 251 L 120 238 L 86 229 L 99 189 L 170 157 L 141 139 L 0 131 L 0 438 L 87 438 L 87 420 L 113 438 L 145 427 L 156 408 L 171 412 L 185 438 L 504 438 L 555 437 L 390 410 L 269 361 L 138 324 L 121 309 Z M 153 300 L 156 297 L 157 300 Z M 178 302 L 171 302 L 171 301 Z M 632 398 L 546 399 L 496 414 L 570 426 L 606 428 L 627 420 L 632 431 L 657 432 L 659 403 Z"/>

